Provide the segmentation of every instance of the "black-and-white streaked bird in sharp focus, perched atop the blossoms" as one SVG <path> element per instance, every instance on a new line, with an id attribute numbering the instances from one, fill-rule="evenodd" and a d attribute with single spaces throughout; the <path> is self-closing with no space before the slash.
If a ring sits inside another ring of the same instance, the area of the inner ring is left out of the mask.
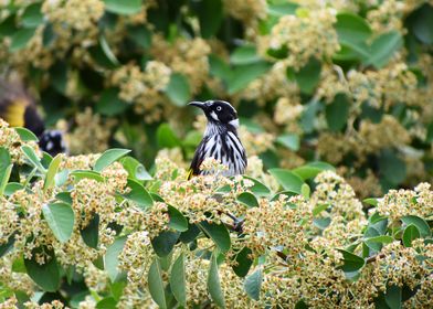
<path id="1" fill-rule="evenodd" d="M 203 110 L 208 125 L 192 159 L 188 179 L 207 173 L 200 170 L 207 158 L 213 158 L 225 166 L 228 170 L 222 172 L 225 177 L 243 174 L 246 154 L 237 136 L 239 119 L 233 106 L 225 100 L 191 102 L 189 105 Z"/>

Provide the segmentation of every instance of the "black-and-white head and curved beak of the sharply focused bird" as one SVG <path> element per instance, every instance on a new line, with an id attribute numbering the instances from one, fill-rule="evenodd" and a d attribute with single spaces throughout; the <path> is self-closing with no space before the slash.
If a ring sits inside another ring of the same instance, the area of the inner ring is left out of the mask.
<path id="1" fill-rule="evenodd" d="M 226 126 L 239 127 L 237 113 L 234 107 L 225 100 L 207 100 L 207 102 L 191 102 L 189 105 L 201 108 L 208 118 L 208 121 L 213 124 L 222 124 Z"/>

